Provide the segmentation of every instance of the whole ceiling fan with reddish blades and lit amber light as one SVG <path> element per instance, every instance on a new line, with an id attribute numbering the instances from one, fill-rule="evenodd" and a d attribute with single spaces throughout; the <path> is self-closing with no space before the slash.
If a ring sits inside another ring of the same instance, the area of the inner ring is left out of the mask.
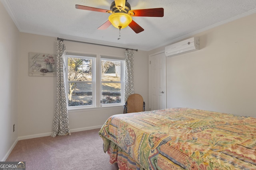
<path id="1" fill-rule="evenodd" d="M 132 28 L 135 33 L 140 33 L 144 29 L 138 25 L 133 17 L 163 17 L 164 8 L 150 8 L 150 9 L 140 9 L 140 10 L 131 10 L 130 4 L 127 0 L 114 0 L 110 5 L 110 10 L 104 10 L 100 8 L 94 8 L 90 6 L 76 5 L 76 9 L 89 10 L 96 12 L 110 13 L 108 21 L 103 23 L 98 29 L 107 29 L 111 24 L 120 29 L 123 29 L 127 26 Z"/>

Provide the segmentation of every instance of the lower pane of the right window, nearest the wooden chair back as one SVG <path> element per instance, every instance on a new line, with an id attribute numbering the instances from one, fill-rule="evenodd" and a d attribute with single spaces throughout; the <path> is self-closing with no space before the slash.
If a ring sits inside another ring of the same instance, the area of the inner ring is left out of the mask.
<path id="1" fill-rule="evenodd" d="M 102 83 L 102 104 L 121 103 L 121 83 Z"/>

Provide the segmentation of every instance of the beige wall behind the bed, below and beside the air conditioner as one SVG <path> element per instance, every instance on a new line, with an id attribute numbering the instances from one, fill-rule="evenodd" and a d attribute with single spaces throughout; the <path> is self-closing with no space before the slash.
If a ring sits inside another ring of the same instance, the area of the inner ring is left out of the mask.
<path id="1" fill-rule="evenodd" d="M 167 107 L 256 117 L 255 30 L 252 14 L 194 35 L 199 51 L 167 57 Z"/>

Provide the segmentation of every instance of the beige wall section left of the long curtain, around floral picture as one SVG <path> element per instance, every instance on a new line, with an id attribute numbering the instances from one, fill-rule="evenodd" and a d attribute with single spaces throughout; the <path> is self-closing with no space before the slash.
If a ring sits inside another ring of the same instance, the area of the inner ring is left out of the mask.
<path id="1" fill-rule="evenodd" d="M 56 77 L 28 76 L 28 53 L 56 54 L 54 37 L 20 33 L 18 136 L 49 133 L 56 101 Z"/>

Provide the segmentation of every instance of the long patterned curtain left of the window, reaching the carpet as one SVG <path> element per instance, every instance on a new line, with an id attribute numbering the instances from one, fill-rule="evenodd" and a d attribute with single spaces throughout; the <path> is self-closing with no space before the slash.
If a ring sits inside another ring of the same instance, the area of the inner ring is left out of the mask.
<path id="1" fill-rule="evenodd" d="M 68 122 L 68 107 L 65 84 L 65 64 L 62 58 L 66 46 L 62 39 L 57 42 L 56 77 L 57 77 L 57 100 L 53 119 L 52 137 L 56 135 L 70 135 Z"/>

